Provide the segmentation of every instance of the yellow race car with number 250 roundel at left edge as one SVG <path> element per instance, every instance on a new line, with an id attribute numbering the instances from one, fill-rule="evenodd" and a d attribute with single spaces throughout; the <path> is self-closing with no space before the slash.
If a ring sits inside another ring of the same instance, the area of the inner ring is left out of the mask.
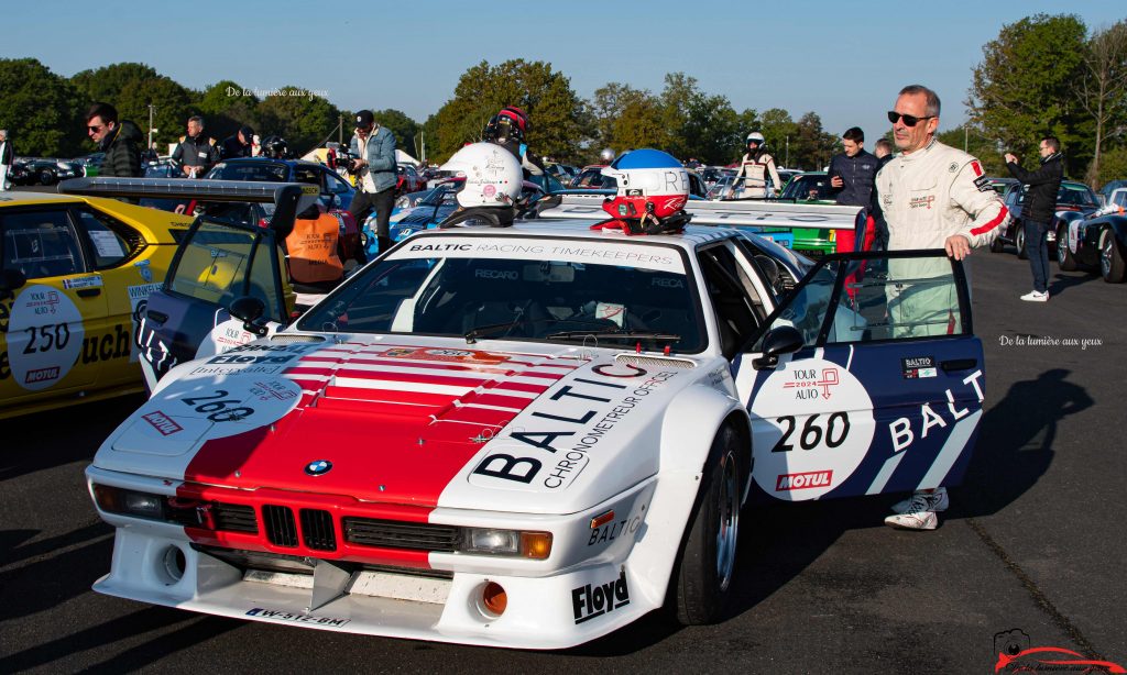
<path id="1" fill-rule="evenodd" d="M 0 194 L 0 418 L 143 392 L 135 317 L 190 216 Z"/>

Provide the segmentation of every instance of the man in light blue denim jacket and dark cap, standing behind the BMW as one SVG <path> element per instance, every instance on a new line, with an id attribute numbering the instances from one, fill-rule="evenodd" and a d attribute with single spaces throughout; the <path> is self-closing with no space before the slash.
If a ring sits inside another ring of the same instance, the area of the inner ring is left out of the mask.
<path id="1" fill-rule="evenodd" d="M 387 127 L 375 124 L 371 110 L 356 114 L 356 135 L 348 145 L 353 155 L 352 169 L 356 174 L 358 191 L 353 197 L 348 213 L 362 224 L 367 212 L 375 210 L 375 232 L 380 253 L 391 248 L 388 218 L 396 201 L 396 136 Z"/>

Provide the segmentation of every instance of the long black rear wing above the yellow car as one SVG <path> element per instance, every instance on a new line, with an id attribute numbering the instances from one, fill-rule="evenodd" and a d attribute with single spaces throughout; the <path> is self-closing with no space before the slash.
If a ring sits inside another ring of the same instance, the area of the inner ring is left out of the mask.
<path id="1" fill-rule="evenodd" d="M 60 182 L 59 191 L 89 197 L 273 204 L 272 224 L 289 224 L 289 227 L 293 226 L 298 214 L 313 206 L 321 196 L 320 187 L 308 183 L 169 178 L 72 178 Z"/>

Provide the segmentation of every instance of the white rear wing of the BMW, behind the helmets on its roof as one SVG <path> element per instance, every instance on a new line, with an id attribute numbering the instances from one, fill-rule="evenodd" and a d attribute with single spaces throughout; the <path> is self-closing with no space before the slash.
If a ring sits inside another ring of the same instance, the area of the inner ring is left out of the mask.
<path id="1" fill-rule="evenodd" d="M 559 204 L 539 212 L 540 218 L 603 218 L 602 192 L 557 194 Z M 549 195 L 549 197 L 552 197 Z M 860 206 L 807 205 L 787 201 L 704 201 L 690 199 L 685 212 L 692 225 L 728 227 L 808 227 L 813 230 L 857 230 L 864 226 L 868 210 Z"/>

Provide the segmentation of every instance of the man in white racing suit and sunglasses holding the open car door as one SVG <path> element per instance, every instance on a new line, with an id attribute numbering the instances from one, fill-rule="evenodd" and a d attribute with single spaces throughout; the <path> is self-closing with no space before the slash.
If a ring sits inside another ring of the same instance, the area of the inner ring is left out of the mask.
<path id="1" fill-rule="evenodd" d="M 986 182 L 974 156 L 935 140 L 939 96 L 919 84 L 900 90 L 888 112 L 900 154 L 877 173 L 880 208 L 888 222 L 888 250 L 944 249 L 955 260 L 987 246 L 1010 213 Z M 888 318 L 895 336 L 953 332 L 958 310 L 950 263 L 942 259 L 895 259 L 888 263 Z M 935 513 L 950 504 L 946 488 L 916 492 L 893 506 L 885 524 L 934 530 Z"/>

